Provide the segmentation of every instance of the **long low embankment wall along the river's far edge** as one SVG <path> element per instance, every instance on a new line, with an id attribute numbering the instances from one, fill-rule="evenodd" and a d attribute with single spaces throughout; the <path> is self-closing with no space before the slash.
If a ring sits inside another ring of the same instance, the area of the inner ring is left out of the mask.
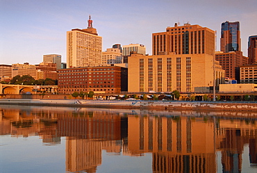
<path id="1" fill-rule="evenodd" d="M 138 108 L 138 109 L 158 109 L 158 110 L 233 110 L 233 111 L 254 111 L 257 113 L 257 102 L 0 99 L 0 105 L 1 104 L 28 105 L 28 106 L 70 106 L 70 107 L 92 107 L 92 108 Z"/>

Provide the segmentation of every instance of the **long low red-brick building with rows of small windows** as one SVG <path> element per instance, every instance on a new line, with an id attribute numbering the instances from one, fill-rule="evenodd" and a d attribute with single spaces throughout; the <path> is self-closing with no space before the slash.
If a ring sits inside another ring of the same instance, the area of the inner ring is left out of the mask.
<path id="1" fill-rule="evenodd" d="M 127 91 L 128 69 L 116 66 L 58 69 L 58 92 L 120 93 Z"/>

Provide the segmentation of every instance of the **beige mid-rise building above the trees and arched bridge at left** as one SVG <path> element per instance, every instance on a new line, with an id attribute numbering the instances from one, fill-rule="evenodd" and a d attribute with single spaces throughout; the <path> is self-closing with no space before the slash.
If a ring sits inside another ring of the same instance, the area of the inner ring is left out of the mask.
<path id="1" fill-rule="evenodd" d="M 29 63 L 24 63 L 24 64 L 13 64 L 12 65 L 13 70 L 12 70 L 12 78 L 14 76 L 24 76 L 24 75 L 30 75 L 34 79 L 37 78 L 37 69 L 35 69 L 35 65 L 30 65 Z"/>

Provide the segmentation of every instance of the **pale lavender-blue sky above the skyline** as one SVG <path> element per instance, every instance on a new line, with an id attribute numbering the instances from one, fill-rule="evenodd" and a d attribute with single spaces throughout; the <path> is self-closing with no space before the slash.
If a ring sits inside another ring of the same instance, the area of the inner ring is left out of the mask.
<path id="1" fill-rule="evenodd" d="M 257 35 L 257 0 L 0 0 L 0 64 L 39 64 L 43 55 L 60 54 L 66 62 L 66 32 L 93 27 L 102 50 L 113 44 L 144 44 L 151 55 L 151 34 L 179 23 L 217 31 L 222 22 L 240 22 L 247 56 L 250 35 Z"/>

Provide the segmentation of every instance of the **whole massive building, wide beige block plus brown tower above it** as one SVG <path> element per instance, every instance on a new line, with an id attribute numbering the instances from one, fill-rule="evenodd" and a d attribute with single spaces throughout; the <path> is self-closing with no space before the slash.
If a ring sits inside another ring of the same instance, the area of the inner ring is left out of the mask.
<path id="1" fill-rule="evenodd" d="M 175 24 L 152 36 L 153 56 L 128 58 L 128 92 L 210 92 L 213 81 L 224 83 L 224 70 L 214 60 L 215 31 Z"/>

